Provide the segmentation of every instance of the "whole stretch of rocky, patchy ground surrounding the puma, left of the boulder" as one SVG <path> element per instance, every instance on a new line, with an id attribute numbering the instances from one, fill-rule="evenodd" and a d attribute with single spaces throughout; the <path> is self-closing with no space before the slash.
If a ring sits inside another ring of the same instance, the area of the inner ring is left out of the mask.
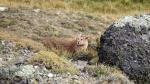
<path id="1" fill-rule="evenodd" d="M 89 65 L 87 59 L 68 59 L 65 56 L 71 54 L 48 50 L 40 43 L 45 36 L 72 37 L 83 33 L 90 37 L 89 46 L 97 48 L 96 39 L 111 22 L 110 17 L 85 12 L 2 9 L 0 84 L 133 84 L 115 67 Z M 98 57 L 95 50 L 78 55 L 95 61 Z"/>

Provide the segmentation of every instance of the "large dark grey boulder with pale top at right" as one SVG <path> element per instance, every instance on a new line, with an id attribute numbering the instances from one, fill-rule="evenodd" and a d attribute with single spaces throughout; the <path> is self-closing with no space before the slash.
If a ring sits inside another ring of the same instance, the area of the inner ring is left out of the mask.
<path id="1" fill-rule="evenodd" d="M 126 16 L 100 38 L 100 62 L 117 65 L 138 84 L 150 84 L 150 15 Z"/>

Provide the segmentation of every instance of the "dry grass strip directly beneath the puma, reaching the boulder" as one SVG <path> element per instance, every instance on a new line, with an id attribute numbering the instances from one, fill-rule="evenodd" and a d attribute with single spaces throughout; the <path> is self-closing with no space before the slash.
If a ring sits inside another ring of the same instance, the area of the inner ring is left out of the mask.
<path id="1" fill-rule="evenodd" d="M 86 52 L 76 52 L 76 53 L 71 53 L 66 50 L 61 50 L 61 49 L 55 49 L 51 48 L 48 49 L 48 51 L 55 52 L 58 56 L 66 58 L 68 60 L 73 59 L 83 59 L 89 61 L 90 64 L 97 64 L 98 63 L 98 54 L 97 51 L 93 48 L 88 48 Z"/>

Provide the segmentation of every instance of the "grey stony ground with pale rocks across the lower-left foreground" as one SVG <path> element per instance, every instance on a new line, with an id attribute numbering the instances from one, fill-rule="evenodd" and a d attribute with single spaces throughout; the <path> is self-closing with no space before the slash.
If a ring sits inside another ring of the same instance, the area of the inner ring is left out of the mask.
<path id="1" fill-rule="evenodd" d="M 53 73 L 44 65 L 29 64 L 27 61 L 33 57 L 35 52 L 25 48 L 17 48 L 15 43 L 11 41 L 1 40 L 1 55 L 0 55 L 0 83 L 1 84 L 129 84 L 128 79 L 123 75 L 101 75 L 98 76 L 95 72 L 88 68 L 90 65 L 87 61 L 73 62 L 80 71 L 77 74 Z M 118 79 L 121 78 L 121 79 Z"/>

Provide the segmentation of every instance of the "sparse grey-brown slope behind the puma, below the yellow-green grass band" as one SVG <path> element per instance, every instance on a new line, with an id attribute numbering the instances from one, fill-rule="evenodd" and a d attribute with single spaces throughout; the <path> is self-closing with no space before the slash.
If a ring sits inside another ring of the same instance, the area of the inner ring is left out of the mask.
<path id="1" fill-rule="evenodd" d="M 65 10 L 12 8 L 0 14 L 1 28 L 29 38 L 50 35 L 68 36 L 77 33 L 99 35 L 112 21 L 110 17 Z"/>

